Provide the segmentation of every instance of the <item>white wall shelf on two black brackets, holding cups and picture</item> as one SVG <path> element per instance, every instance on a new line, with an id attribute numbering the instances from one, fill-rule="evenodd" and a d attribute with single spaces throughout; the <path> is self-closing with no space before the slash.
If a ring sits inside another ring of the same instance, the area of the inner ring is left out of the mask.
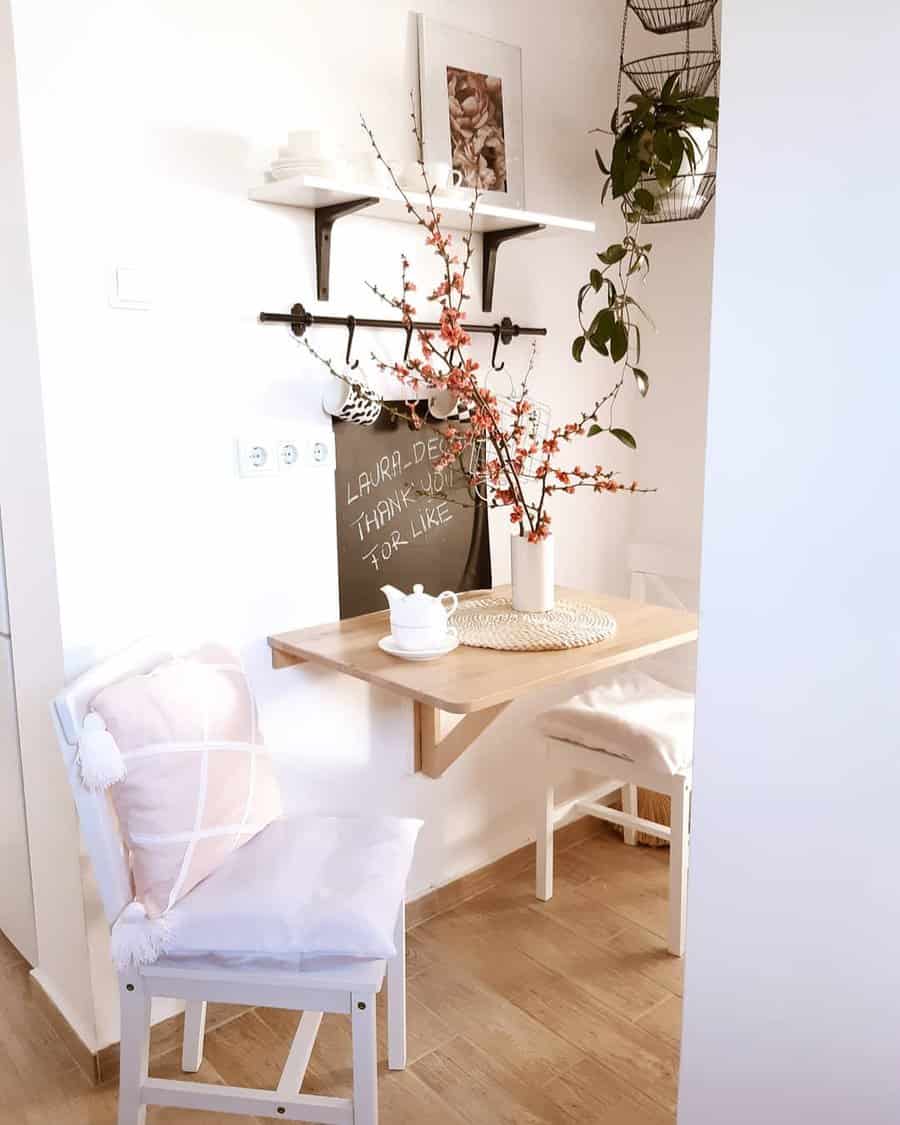
<path id="1" fill-rule="evenodd" d="M 408 191 L 410 201 L 424 214 L 428 197 Z M 331 259 L 331 230 L 342 215 L 363 210 L 368 218 L 389 219 L 395 223 L 415 223 L 403 196 L 395 188 L 384 184 L 345 183 L 317 176 L 295 176 L 289 180 L 274 180 L 253 188 L 250 198 L 260 204 L 280 204 L 285 207 L 305 207 L 316 213 L 316 273 L 318 299 L 328 299 Z M 449 231 L 468 231 L 470 199 L 446 191 L 434 197 L 441 215 L 441 225 Z M 353 205 L 357 205 L 356 207 Z M 540 230 L 576 231 L 593 234 L 594 223 L 579 218 L 562 218 L 540 212 L 497 207 L 479 201 L 475 213 L 474 230 L 486 235 L 483 255 L 483 307 L 489 312 L 493 303 L 494 273 L 497 249 L 508 238 L 537 234 Z"/>

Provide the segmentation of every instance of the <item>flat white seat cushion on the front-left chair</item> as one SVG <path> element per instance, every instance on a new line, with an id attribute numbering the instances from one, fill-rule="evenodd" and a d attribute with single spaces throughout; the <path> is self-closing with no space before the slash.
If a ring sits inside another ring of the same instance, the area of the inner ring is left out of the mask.
<path id="1" fill-rule="evenodd" d="M 173 960 L 392 957 L 421 820 L 276 820 L 170 912 Z"/>

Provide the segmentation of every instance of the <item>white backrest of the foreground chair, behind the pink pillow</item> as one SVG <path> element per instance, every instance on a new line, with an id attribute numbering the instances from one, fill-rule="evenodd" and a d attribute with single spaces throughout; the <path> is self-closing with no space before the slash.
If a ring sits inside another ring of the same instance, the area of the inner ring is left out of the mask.
<path id="1" fill-rule="evenodd" d="M 132 876 L 108 793 L 91 793 L 81 784 L 78 739 L 93 698 L 119 680 L 143 675 L 169 659 L 172 648 L 143 640 L 86 672 L 53 701 L 56 735 L 75 799 L 81 832 L 93 865 L 104 910 L 110 925 L 132 901 Z"/>

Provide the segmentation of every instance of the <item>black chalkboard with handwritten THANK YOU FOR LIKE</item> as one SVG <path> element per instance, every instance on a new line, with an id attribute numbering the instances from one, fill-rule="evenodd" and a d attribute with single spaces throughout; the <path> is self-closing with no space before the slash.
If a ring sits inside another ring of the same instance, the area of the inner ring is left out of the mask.
<path id="1" fill-rule="evenodd" d="M 490 586 L 486 505 L 456 466 L 433 468 L 438 431 L 382 411 L 369 426 L 335 420 L 334 442 L 342 618 L 386 609 L 386 584 L 410 591 L 421 582 L 430 594 Z M 422 495 L 438 492 L 449 498 Z"/>

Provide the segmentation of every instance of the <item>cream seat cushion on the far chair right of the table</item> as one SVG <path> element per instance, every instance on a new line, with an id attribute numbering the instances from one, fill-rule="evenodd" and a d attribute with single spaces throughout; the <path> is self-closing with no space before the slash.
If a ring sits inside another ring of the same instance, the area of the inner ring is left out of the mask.
<path id="1" fill-rule="evenodd" d="M 544 711 L 538 726 L 549 738 L 674 775 L 693 757 L 694 696 L 631 670 Z"/>

